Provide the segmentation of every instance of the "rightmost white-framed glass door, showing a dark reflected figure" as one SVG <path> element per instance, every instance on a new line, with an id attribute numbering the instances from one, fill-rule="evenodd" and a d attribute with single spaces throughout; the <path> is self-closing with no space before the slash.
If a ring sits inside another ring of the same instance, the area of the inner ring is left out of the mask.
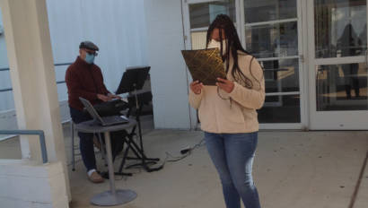
<path id="1" fill-rule="evenodd" d="M 308 2 L 311 129 L 366 129 L 366 0 Z"/>

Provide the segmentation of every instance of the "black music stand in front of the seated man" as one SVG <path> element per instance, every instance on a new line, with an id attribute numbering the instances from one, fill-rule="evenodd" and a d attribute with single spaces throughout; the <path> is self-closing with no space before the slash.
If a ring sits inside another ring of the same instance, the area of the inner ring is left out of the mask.
<path id="1" fill-rule="evenodd" d="M 140 143 L 140 147 L 138 147 L 138 145 L 133 141 L 133 138 L 129 138 L 129 141 L 127 143 L 127 150 L 125 153 L 125 157 L 123 158 L 120 168 L 119 168 L 119 172 L 122 171 L 125 160 L 126 159 L 131 159 L 131 160 L 142 160 L 142 163 L 138 163 L 138 164 L 134 164 L 129 166 L 129 168 L 134 167 L 134 166 L 143 166 L 143 168 L 147 171 L 147 172 L 152 172 L 152 171 L 156 171 L 159 169 L 162 169 L 162 167 L 159 168 L 150 168 L 147 166 L 147 163 L 153 163 L 155 164 L 155 161 L 158 161 L 160 159 L 158 158 L 147 158 L 145 156 L 145 151 L 144 151 L 144 147 L 143 147 L 143 140 L 142 140 L 142 127 L 141 127 L 141 121 L 139 118 L 140 115 L 140 107 L 138 104 L 138 97 L 137 97 L 137 91 L 138 90 L 142 90 L 143 86 L 145 85 L 145 80 L 147 79 L 149 70 L 150 70 L 151 66 L 136 66 L 136 67 L 130 67 L 127 68 L 127 71 L 123 74 L 123 77 L 121 78 L 121 82 L 118 85 L 118 90 L 116 91 L 116 94 L 122 94 L 122 93 L 127 93 L 127 92 L 133 92 L 134 91 L 134 96 L 136 99 L 136 123 L 138 126 L 138 136 L 139 136 L 139 143 Z M 132 145 L 130 145 L 132 144 Z M 127 151 L 128 148 L 132 148 L 132 151 L 136 154 L 137 158 L 128 158 L 127 157 Z M 148 160 L 148 162 L 146 161 Z"/>

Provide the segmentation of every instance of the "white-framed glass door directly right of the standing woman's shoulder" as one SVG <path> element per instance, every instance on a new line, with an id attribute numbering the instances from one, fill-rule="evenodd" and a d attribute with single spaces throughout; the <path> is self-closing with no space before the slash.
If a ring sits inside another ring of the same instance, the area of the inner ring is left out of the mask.
<path id="1" fill-rule="evenodd" d="M 245 48 L 264 67 L 266 101 L 258 111 L 261 128 L 306 125 L 302 91 L 302 1 L 243 0 Z"/>

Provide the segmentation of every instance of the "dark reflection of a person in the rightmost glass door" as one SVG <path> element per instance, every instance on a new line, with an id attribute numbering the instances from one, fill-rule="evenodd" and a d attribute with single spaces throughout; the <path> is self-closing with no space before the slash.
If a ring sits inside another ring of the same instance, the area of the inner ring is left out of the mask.
<path id="1" fill-rule="evenodd" d="M 337 48 L 341 51 L 341 56 L 356 56 L 360 53 L 359 38 L 357 37 L 352 24 L 347 24 L 340 39 L 337 40 Z M 355 97 L 359 95 L 359 79 L 357 63 L 341 65 L 344 73 L 346 99 L 351 99 L 351 88 L 354 87 Z"/>

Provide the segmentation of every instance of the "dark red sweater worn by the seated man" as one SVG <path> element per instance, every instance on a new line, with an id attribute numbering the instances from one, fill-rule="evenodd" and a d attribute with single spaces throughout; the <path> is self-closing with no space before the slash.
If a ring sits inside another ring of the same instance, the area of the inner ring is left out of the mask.
<path id="1" fill-rule="evenodd" d="M 79 97 L 89 100 L 92 105 L 101 103 L 97 94 L 110 93 L 103 83 L 101 69 L 97 65 L 90 65 L 79 56 L 66 70 L 66 86 L 69 95 L 69 106 L 83 110 L 83 104 Z"/>

